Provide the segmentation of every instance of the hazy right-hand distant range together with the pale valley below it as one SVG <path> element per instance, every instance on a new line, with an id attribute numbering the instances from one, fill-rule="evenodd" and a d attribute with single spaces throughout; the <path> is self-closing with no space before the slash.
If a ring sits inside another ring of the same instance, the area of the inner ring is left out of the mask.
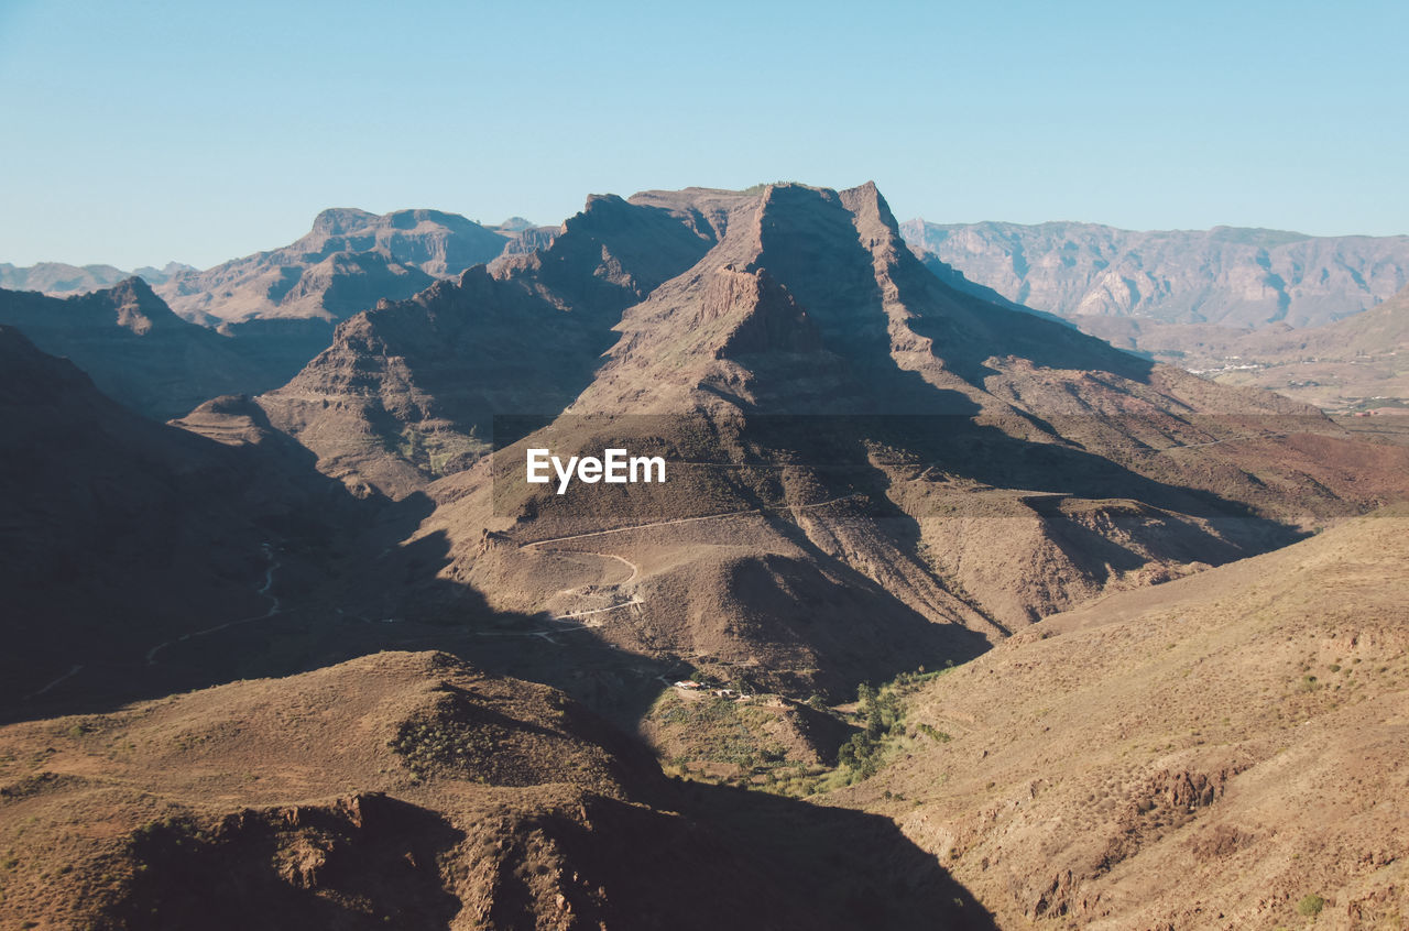
<path id="1" fill-rule="evenodd" d="M 1405 315 L 1409 237 L 923 220 L 902 231 L 954 287 L 1122 349 L 1324 410 L 1409 407 L 1403 325 L 1391 323 Z M 1381 306 L 1384 323 L 1354 323 Z"/>

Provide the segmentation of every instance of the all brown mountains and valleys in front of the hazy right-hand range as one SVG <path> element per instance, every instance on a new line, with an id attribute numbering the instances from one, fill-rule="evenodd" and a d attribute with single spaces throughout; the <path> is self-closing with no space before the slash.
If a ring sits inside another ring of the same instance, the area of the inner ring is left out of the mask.
<path id="1" fill-rule="evenodd" d="M 6 921 L 1401 907 L 1409 444 L 1034 313 L 875 185 L 325 211 L 183 275 L 218 331 L 0 293 Z M 261 339 L 296 373 L 173 363 Z M 664 480 L 527 480 L 612 448 Z"/>

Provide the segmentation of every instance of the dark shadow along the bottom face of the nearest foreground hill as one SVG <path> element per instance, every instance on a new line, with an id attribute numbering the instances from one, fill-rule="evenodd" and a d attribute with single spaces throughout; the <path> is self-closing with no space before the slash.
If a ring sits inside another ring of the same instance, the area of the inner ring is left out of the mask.
<path id="1" fill-rule="evenodd" d="M 506 928 L 537 927 L 545 913 L 626 930 L 996 928 L 883 816 L 651 773 L 633 782 L 630 801 L 511 796 L 471 834 L 445 811 L 382 793 L 152 821 L 132 834 L 132 882 L 103 917 L 149 928 L 445 928 L 478 910 Z M 517 820 L 507 831 L 504 816 Z"/>

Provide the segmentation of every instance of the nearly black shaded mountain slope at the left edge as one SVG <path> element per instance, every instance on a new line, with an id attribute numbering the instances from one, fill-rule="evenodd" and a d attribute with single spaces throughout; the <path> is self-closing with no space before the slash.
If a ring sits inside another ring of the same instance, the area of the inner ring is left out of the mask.
<path id="1" fill-rule="evenodd" d="M 345 496 L 248 408 L 255 442 L 230 448 L 128 411 L 0 327 L 7 718 L 76 666 L 142 668 L 166 639 L 269 611 L 269 566 L 307 559 L 268 544 L 327 534 Z"/>

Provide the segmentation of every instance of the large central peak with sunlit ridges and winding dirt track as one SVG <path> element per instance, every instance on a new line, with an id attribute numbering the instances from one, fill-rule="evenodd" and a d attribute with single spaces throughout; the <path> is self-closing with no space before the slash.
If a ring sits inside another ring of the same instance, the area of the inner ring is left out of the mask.
<path id="1" fill-rule="evenodd" d="M 1309 408 L 950 289 L 874 186 L 635 200 L 720 238 L 623 313 L 562 417 L 430 489 L 445 577 L 502 610 L 844 690 L 1289 541 L 1268 517 L 1406 492 L 1403 451 L 1336 473 L 1355 444 Z M 668 479 L 558 494 L 528 448 L 661 455 Z"/>

